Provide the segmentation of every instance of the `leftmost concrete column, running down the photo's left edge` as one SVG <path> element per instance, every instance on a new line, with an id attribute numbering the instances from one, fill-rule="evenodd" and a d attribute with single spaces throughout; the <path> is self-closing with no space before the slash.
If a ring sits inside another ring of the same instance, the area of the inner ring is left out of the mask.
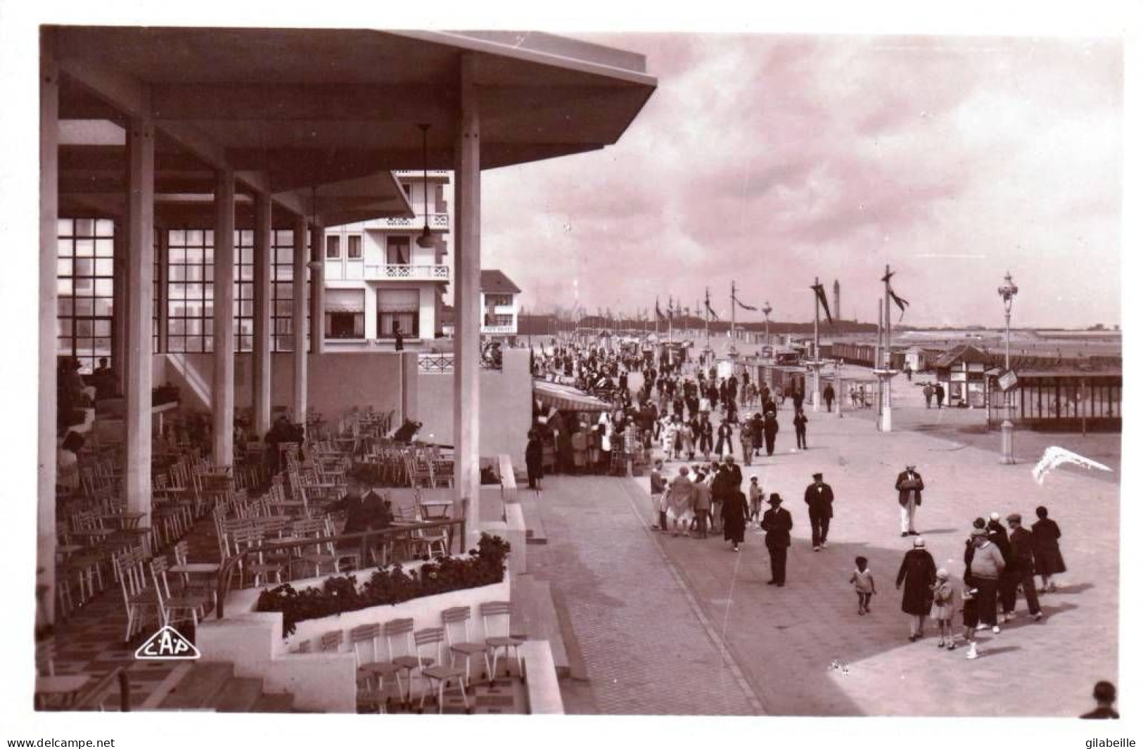
<path id="1" fill-rule="evenodd" d="M 47 592 L 38 624 L 55 621 L 56 601 L 56 237 L 59 220 L 59 69 L 49 30 L 40 33 L 40 405 L 37 409 L 35 559 Z"/>

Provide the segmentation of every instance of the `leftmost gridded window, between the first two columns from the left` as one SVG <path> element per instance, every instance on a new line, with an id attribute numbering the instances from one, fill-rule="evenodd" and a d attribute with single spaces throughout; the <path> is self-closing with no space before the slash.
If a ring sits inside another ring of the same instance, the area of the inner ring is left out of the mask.
<path id="1" fill-rule="evenodd" d="M 59 220 L 56 351 L 77 357 L 83 372 L 94 369 L 99 357 L 111 357 L 113 255 L 111 220 Z"/>

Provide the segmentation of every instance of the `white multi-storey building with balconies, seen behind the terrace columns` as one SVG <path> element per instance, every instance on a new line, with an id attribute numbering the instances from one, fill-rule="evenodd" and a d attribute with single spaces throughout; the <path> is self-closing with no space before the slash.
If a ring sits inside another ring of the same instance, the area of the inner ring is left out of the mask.
<path id="1" fill-rule="evenodd" d="M 333 351 L 391 349 L 400 329 L 408 349 L 435 337 L 441 296 L 451 279 L 448 253 L 448 172 L 395 172 L 409 215 L 326 230 L 325 327 Z M 417 240 L 426 225 L 431 247 Z M 514 325 L 514 322 L 513 322 Z"/>

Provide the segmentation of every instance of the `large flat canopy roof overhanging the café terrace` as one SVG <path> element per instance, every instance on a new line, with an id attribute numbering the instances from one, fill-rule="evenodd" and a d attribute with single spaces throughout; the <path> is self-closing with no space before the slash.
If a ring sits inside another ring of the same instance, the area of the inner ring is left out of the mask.
<path id="1" fill-rule="evenodd" d="M 424 166 L 419 123 L 430 126 L 427 167 L 454 168 L 463 56 L 474 61 L 485 169 L 614 144 L 656 87 L 641 55 L 533 32 L 45 32 L 62 121 L 153 119 L 157 193 L 209 193 L 214 170 L 229 168 L 240 190 L 301 213 L 313 188 L 375 178 L 370 193 L 349 190 L 352 205 L 328 205 L 325 225 L 342 223 L 333 214 L 410 215 L 395 180 L 377 175 Z M 62 150 L 61 206 L 114 210 L 123 145 L 106 126 L 86 129 Z"/>

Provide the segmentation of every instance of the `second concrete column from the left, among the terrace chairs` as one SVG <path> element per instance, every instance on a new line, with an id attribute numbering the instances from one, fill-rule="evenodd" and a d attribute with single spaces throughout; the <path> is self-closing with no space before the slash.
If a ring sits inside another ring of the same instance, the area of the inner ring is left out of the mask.
<path id="1" fill-rule="evenodd" d="M 127 509 L 151 525 L 151 311 L 154 298 L 154 125 L 127 126 Z M 119 300 L 115 300 L 119 304 Z"/>

